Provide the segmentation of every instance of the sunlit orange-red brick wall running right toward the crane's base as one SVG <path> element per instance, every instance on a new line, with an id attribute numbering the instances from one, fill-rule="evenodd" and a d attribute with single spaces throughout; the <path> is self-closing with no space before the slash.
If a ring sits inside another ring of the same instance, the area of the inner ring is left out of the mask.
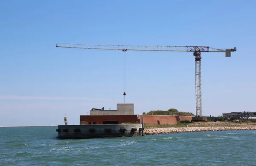
<path id="1" fill-rule="evenodd" d="M 140 115 L 143 117 L 144 123 L 157 124 L 157 120 L 159 120 L 160 124 L 177 124 L 177 117 L 175 116 L 167 116 L 167 115 Z M 192 120 L 192 117 L 187 116 L 179 116 L 180 120 Z"/>

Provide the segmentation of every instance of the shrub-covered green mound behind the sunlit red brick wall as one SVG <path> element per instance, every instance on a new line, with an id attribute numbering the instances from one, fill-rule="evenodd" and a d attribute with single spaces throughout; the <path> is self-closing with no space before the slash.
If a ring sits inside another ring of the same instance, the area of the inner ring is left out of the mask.
<path id="1" fill-rule="evenodd" d="M 179 112 L 177 109 L 169 109 L 168 111 L 155 110 L 155 111 L 147 112 L 145 114 L 150 114 L 150 115 L 172 115 L 172 116 L 195 116 L 195 114 L 193 114 L 191 112 Z"/>

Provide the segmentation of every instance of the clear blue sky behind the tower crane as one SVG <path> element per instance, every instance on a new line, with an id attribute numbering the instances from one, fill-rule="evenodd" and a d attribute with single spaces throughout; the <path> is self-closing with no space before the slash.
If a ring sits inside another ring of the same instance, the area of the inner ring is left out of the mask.
<path id="1" fill-rule="evenodd" d="M 56 43 L 237 47 L 201 53 L 202 114 L 256 112 L 254 0 L 9 0 L 0 5 L 0 126 L 79 124 L 123 103 L 122 51 Z M 134 114 L 195 111 L 192 52 L 126 52 Z"/>

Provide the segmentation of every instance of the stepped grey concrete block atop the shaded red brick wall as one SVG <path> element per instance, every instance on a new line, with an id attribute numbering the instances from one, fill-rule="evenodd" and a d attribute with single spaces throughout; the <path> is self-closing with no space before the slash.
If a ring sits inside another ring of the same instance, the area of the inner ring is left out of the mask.
<path id="1" fill-rule="evenodd" d="M 118 103 L 116 104 L 116 110 L 104 110 L 102 109 L 92 109 L 90 110 L 90 115 L 133 115 L 134 114 L 134 104 L 133 103 Z"/>

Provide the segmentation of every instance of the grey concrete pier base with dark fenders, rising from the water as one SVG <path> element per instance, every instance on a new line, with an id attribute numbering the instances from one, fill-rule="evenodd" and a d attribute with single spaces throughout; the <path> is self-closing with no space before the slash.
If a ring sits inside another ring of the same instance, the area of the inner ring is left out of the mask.
<path id="1" fill-rule="evenodd" d="M 86 139 L 104 137 L 133 137 L 142 135 L 141 124 L 118 125 L 58 125 L 58 138 Z"/>

